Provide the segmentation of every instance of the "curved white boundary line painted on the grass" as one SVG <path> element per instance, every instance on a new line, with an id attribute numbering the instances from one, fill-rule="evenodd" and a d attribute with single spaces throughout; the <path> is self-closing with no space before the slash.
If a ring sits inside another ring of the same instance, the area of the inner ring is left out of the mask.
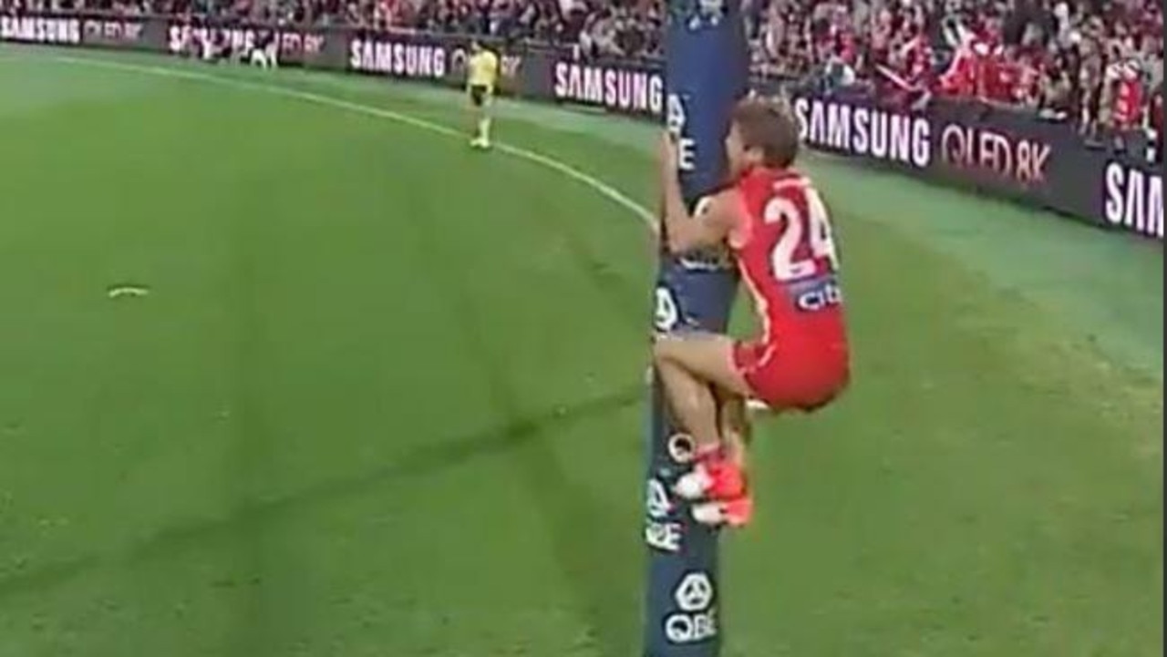
<path id="1" fill-rule="evenodd" d="M 180 69 L 172 69 L 168 67 L 152 67 L 146 64 L 130 64 L 126 62 L 112 62 L 109 60 L 90 60 L 86 57 L 70 57 L 65 55 L 51 56 L 51 57 L 34 57 L 41 60 L 49 60 L 54 62 L 61 62 L 65 64 L 74 64 L 81 67 L 91 67 L 99 69 L 111 69 L 127 72 L 137 72 L 142 75 L 152 75 L 158 77 L 166 77 L 172 79 L 190 79 L 196 82 L 204 82 L 208 84 L 217 84 L 219 86 L 231 86 L 236 89 L 243 89 L 247 91 L 256 91 L 260 93 L 267 93 L 270 96 L 281 96 L 284 98 L 292 98 L 295 100 L 301 100 L 305 103 L 313 103 L 315 105 L 323 105 L 327 107 L 333 107 L 336 110 L 343 110 L 347 112 L 354 112 L 357 114 L 364 114 L 366 117 L 376 117 L 378 119 L 384 119 L 389 121 L 394 121 L 398 124 L 412 126 L 426 132 L 434 134 L 441 134 L 443 137 L 455 137 L 461 139 L 462 133 L 440 124 L 427 121 L 425 119 L 419 119 L 417 117 L 411 117 L 408 114 L 403 114 L 400 112 L 394 112 L 392 110 L 385 110 L 383 107 L 376 107 L 372 105 L 365 105 L 362 103 L 354 103 L 350 100 L 344 100 L 335 96 L 326 96 L 322 93 L 314 93 L 312 91 L 302 91 L 299 89 L 293 89 L 291 86 L 284 86 L 279 84 L 267 84 L 259 82 L 250 82 L 232 77 L 224 77 L 211 75 L 200 71 L 186 71 Z M 566 162 L 555 160 L 547 155 L 536 153 L 533 151 L 527 151 L 525 148 L 519 148 L 518 146 L 511 146 L 509 144 L 497 144 L 496 148 L 520 160 L 526 160 L 540 167 L 557 172 L 575 182 L 582 183 L 592 190 L 596 191 L 601 196 L 608 198 L 613 203 L 624 208 L 631 214 L 636 215 L 641 221 L 648 224 L 650 228 L 656 225 L 656 219 L 652 212 L 648 210 L 644 205 L 641 205 L 636 201 L 628 197 L 624 193 L 612 187 L 610 184 L 603 182 L 602 180 L 588 175 Z"/>

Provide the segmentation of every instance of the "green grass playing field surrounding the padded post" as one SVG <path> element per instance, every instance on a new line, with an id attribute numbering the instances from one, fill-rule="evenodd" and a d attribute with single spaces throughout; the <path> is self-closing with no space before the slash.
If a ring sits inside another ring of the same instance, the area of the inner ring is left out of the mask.
<path id="1" fill-rule="evenodd" d="M 637 655 L 645 229 L 459 103 L 0 48 L 0 657 Z M 1160 655 L 1161 245 L 806 167 L 855 383 L 760 432 L 726 657 Z"/>

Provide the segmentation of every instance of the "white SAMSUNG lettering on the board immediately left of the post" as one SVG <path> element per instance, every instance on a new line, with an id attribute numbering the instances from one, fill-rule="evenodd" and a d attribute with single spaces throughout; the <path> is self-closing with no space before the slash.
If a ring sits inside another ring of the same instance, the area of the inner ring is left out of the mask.
<path id="1" fill-rule="evenodd" d="M 655 116 L 664 112 L 664 77 L 659 72 L 557 62 L 553 77 L 557 100 Z"/>

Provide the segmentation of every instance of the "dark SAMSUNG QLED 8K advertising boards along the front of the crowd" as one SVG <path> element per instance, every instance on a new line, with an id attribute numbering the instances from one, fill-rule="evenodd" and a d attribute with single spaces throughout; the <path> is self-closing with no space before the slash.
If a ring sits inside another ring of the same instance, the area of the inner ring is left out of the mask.
<path id="1" fill-rule="evenodd" d="M 0 16 L 0 41 L 175 55 L 191 36 L 212 35 L 238 50 L 273 29 L 281 65 L 463 83 L 468 40 L 460 36 L 168 16 Z M 665 114 L 662 63 L 585 62 L 567 49 L 533 43 L 499 44 L 499 50 L 505 93 L 655 120 Z M 815 149 L 1163 238 L 1162 172 L 1141 149 L 1091 147 L 1068 124 L 1012 109 L 941 99 L 910 112 L 880 106 L 861 93 L 803 92 L 789 81 L 755 77 L 752 85 L 763 93 L 784 89 L 792 95 L 803 137 Z"/>

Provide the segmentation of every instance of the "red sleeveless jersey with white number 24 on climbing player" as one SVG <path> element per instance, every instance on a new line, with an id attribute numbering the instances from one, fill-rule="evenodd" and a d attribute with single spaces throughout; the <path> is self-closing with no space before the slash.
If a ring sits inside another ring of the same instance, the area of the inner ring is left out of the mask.
<path id="1" fill-rule="evenodd" d="M 839 258 L 818 191 L 797 172 L 767 168 L 743 175 L 736 190 L 743 208 L 729 246 L 762 324 L 760 342 L 845 350 Z"/>

